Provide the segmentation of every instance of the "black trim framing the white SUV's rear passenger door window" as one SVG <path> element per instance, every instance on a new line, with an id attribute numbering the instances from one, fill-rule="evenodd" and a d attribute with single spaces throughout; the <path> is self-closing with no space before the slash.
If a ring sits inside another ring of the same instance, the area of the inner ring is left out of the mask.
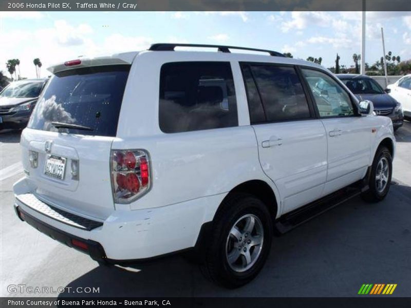
<path id="1" fill-rule="evenodd" d="M 307 85 L 305 84 L 305 79 L 302 80 L 303 76 L 302 73 L 300 72 L 300 70 L 298 69 L 298 65 L 295 64 L 288 64 L 288 63 L 272 63 L 272 62 L 254 62 L 254 61 L 239 61 L 238 62 L 239 66 L 240 66 L 240 70 L 241 70 L 241 76 L 242 76 L 242 81 L 244 82 L 244 87 L 246 90 L 246 96 L 247 96 L 247 106 L 248 106 L 248 110 L 249 110 L 249 118 L 250 118 L 250 125 L 260 125 L 260 124 L 270 124 L 270 123 L 283 123 L 283 122 L 295 122 L 295 121 L 308 121 L 308 120 L 316 120 L 318 119 L 317 117 L 317 113 L 318 111 L 314 108 L 313 105 L 313 101 L 311 98 L 311 95 L 309 91 L 311 91 L 309 88 L 307 88 Z M 308 118 L 300 118 L 300 119 L 289 119 L 289 120 L 272 120 L 272 121 L 268 121 L 267 120 L 267 112 L 266 112 L 266 108 L 264 106 L 263 103 L 263 99 L 261 98 L 261 93 L 260 90 L 258 88 L 257 83 L 255 82 L 255 77 L 253 74 L 253 71 L 251 70 L 251 65 L 260 65 L 260 66 L 282 66 L 282 67 L 293 67 L 295 70 L 295 73 L 298 77 L 298 80 L 300 80 L 300 83 L 303 87 L 303 91 L 304 91 L 304 95 L 306 97 L 307 100 L 307 104 L 308 104 L 308 110 L 310 112 L 310 116 Z M 250 105 L 249 105 L 249 97 L 248 97 L 248 90 L 247 90 L 247 82 L 244 76 L 244 72 L 242 70 L 243 66 L 248 66 L 251 72 L 251 76 L 253 78 L 253 82 L 255 85 L 255 88 L 258 92 L 258 97 L 260 98 L 260 104 L 263 106 L 263 111 L 264 111 L 264 117 L 266 119 L 265 122 L 256 122 L 253 123 L 251 121 L 251 114 L 250 114 Z"/>

